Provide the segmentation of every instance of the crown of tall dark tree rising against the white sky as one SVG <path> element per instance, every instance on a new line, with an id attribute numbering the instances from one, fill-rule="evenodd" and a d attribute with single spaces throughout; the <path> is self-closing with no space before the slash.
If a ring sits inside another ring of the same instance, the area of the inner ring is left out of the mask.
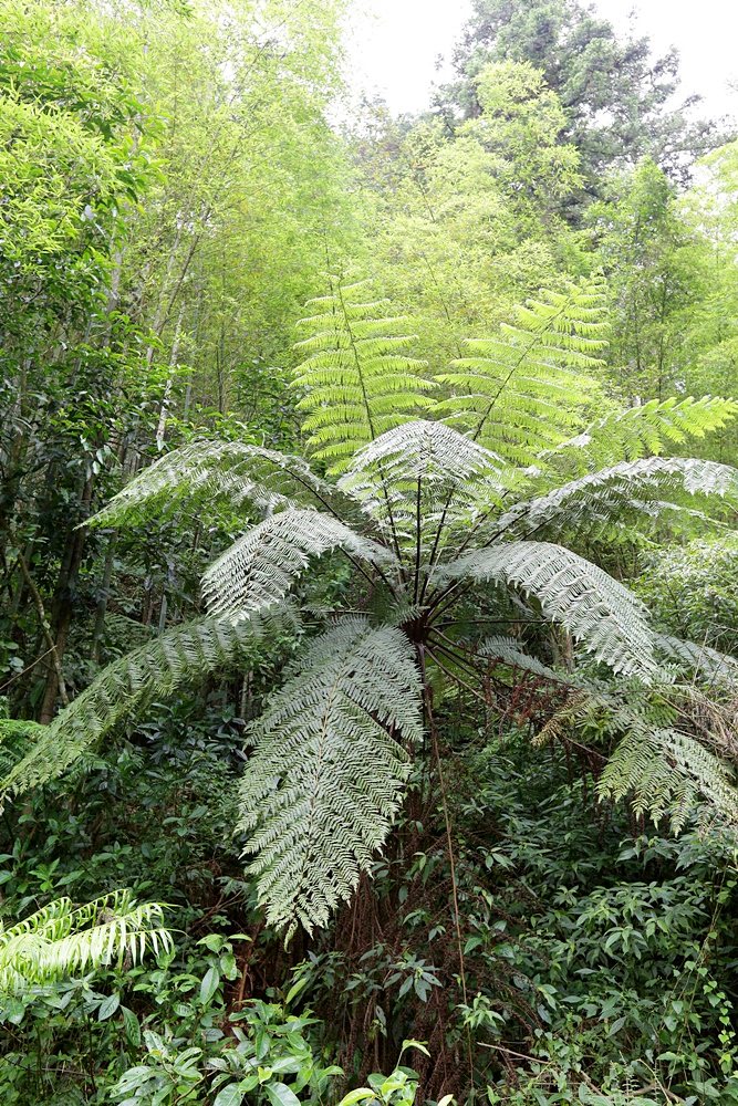
<path id="1" fill-rule="evenodd" d="M 479 113 L 474 77 L 490 60 L 527 61 L 543 72 L 567 113 L 591 195 L 605 169 L 644 156 L 682 177 L 720 140 L 714 123 L 690 118 L 698 97 L 671 106 L 679 84 L 676 51 L 654 58 L 647 38 L 621 40 L 580 0 L 474 0 L 454 55 L 458 79 L 437 96 L 447 118 Z"/>

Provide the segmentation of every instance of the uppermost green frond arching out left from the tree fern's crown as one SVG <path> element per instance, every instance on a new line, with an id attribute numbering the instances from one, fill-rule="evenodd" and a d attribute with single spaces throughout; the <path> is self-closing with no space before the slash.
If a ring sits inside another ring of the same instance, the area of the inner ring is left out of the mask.
<path id="1" fill-rule="evenodd" d="M 214 501 L 264 512 L 288 507 L 333 509 L 335 488 L 301 457 L 239 441 L 194 441 L 159 457 L 89 520 L 93 526 L 146 522 Z"/>

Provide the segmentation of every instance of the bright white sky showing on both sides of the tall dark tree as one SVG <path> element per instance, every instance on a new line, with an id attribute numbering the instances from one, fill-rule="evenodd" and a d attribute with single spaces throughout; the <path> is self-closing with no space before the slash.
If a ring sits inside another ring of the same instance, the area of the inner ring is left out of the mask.
<path id="1" fill-rule="evenodd" d="M 701 114 L 738 115 L 738 0 L 594 0 L 619 29 L 636 12 L 636 28 L 654 50 L 674 45 L 682 58 L 682 92 L 700 93 Z M 450 58 L 470 0 L 358 0 L 352 19 L 352 84 L 381 94 L 395 112 L 427 106 L 436 71 Z"/>

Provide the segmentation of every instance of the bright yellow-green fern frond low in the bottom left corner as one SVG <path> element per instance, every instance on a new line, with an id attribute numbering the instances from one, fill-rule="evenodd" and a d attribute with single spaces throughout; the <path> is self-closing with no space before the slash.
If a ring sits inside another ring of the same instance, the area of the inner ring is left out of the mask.
<path id="1" fill-rule="evenodd" d="M 56 899 L 6 929 L 0 921 L 0 994 L 27 992 L 124 958 L 132 964 L 150 946 L 171 947 L 158 902 L 136 904 L 127 890 L 75 907 Z"/>

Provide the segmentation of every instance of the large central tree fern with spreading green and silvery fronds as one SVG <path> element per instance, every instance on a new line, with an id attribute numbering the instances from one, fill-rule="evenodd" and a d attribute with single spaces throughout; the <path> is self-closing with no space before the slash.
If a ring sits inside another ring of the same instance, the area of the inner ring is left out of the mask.
<path id="1" fill-rule="evenodd" d="M 591 375 L 603 345 L 602 299 L 599 281 L 542 294 L 500 338 L 439 376 L 439 398 L 429 407 L 422 365 L 405 352 L 406 321 L 382 317 L 384 307 L 366 302 L 363 288 L 334 282 L 303 321 L 311 333 L 300 344 L 308 356 L 297 383 L 309 445 L 339 479 L 313 474 L 299 458 L 210 442 L 176 450 L 124 489 L 93 524 L 218 497 L 231 510 L 248 502 L 267 518 L 207 571 L 212 616 L 101 674 L 15 765 L 6 790 L 61 771 L 154 693 L 242 659 L 260 640 L 260 616 L 266 624 L 278 617 L 305 568 L 320 573 L 321 555 L 336 551 L 354 568 L 353 609 L 308 641 L 252 726 L 240 796 L 250 870 L 270 921 L 310 928 L 349 897 L 385 839 L 420 732 L 422 702 L 426 720 L 433 718 L 432 686 L 436 697 L 444 681 L 478 693 L 490 666 L 561 684 L 524 640 L 469 636 L 466 612 L 479 593 L 507 604 L 523 638 L 529 620 L 564 627 L 574 643 L 569 709 L 594 701 L 576 669 L 588 653 L 640 680 L 652 697 L 661 682 L 674 682 L 685 656 L 652 633 L 625 587 L 567 543 L 592 519 L 627 522 L 666 503 L 682 507 L 695 494 L 735 502 L 735 470 L 640 453 L 699 436 L 738 408 L 709 400 L 656 405 L 646 416 L 621 413 L 628 440 L 641 445 L 614 436 L 603 452 L 609 468 L 592 472 L 597 453 L 590 447 L 605 441 L 610 425 L 591 418 L 593 404 L 600 413 L 605 407 Z M 433 419 L 417 417 L 424 406 Z M 572 431 L 588 422 L 576 444 Z M 585 476 L 576 474 L 573 456 L 584 459 Z M 388 616 L 384 625 L 372 620 L 376 611 Z M 648 738 L 654 749 L 661 741 L 654 757 L 683 781 L 666 805 L 684 806 L 684 781 L 692 781 L 693 791 L 701 786 L 726 808 L 730 783 L 727 776 L 716 783 L 719 762 L 699 734 L 682 734 L 680 751 L 669 737 L 668 752 L 664 734 L 680 731 L 671 718 L 653 729 L 663 738 Z M 613 721 L 613 733 L 637 744 L 628 737 L 636 731 L 637 719 Z M 638 780 L 654 776 L 643 758 L 627 761 L 628 748 L 620 754 L 621 791 L 645 797 L 647 785 Z M 607 793 L 615 794 L 616 779 L 604 778 Z"/>

